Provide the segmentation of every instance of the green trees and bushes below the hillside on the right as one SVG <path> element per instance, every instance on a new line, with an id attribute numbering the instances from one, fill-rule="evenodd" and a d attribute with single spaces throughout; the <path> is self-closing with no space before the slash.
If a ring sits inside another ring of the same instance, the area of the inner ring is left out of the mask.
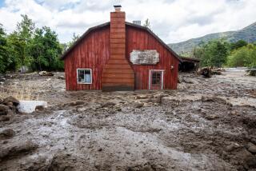
<path id="1" fill-rule="evenodd" d="M 245 41 L 226 42 L 217 39 L 194 48 L 193 57 L 201 59 L 201 66 L 256 66 L 256 45 Z"/>

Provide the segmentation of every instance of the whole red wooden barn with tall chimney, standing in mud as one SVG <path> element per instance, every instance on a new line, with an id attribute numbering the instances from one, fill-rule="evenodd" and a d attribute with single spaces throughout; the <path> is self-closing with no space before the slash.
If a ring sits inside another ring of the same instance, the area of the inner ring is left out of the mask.
<path id="1" fill-rule="evenodd" d="M 62 55 L 66 90 L 176 89 L 178 55 L 114 7 L 110 22 L 87 30 Z"/>

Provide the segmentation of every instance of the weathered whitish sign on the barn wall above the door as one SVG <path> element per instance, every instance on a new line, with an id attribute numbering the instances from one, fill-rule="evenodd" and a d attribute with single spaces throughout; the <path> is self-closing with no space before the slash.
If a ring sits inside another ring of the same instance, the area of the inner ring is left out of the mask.
<path id="1" fill-rule="evenodd" d="M 156 65 L 159 54 L 157 50 L 133 50 L 130 53 L 130 62 L 134 65 Z"/>

